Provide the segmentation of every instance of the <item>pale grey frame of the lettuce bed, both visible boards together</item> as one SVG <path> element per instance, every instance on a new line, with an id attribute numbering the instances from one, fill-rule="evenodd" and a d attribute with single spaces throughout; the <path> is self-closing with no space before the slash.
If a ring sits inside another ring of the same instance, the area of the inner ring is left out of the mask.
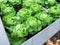
<path id="1" fill-rule="evenodd" d="M 0 18 L 0 45 L 10 45 Z M 21 45 L 43 45 L 48 39 L 55 35 L 60 29 L 60 19 L 43 29 L 41 32 L 28 39 Z M 3 35 L 3 36 L 2 36 Z"/>

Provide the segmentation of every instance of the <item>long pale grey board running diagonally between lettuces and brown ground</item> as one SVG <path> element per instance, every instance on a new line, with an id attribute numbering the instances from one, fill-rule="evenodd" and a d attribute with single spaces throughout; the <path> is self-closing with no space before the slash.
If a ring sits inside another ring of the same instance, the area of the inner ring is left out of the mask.
<path id="1" fill-rule="evenodd" d="M 43 45 L 60 30 L 60 19 L 43 29 L 41 32 L 24 42 L 22 45 Z"/>

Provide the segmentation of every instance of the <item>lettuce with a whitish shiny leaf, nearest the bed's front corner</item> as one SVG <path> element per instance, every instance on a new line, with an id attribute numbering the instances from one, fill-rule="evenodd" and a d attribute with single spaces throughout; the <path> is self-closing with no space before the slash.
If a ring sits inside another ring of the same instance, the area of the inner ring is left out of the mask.
<path id="1" fill-rule="evenodd" d="M 12 37 L 25 37 L 27 35 L 28 35 L 28 31 L 24 24 L 16 25 L 13 30 L 13 33 L 11 34 Z"/>

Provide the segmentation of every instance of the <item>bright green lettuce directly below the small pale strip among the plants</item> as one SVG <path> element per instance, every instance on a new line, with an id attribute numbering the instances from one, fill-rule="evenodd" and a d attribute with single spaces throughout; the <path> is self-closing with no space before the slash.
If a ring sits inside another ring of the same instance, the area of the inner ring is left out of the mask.
<path id="1" fill-rule="evenodd" d="M 35 17 L 39 20 L 42 21 L 43 25 L 45 26 L 46 24 L 49 25 L 51 24 L 53 18 L 47 15 L 47 13 L 42 12 L 42 13 L 37 13 Z M 45 23 L 45 24 L 44 24 Z"/>

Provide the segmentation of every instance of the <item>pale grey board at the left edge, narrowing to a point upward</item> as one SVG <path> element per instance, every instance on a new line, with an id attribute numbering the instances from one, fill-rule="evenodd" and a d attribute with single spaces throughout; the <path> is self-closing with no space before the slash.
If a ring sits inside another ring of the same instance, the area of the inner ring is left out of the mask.
<path id="1" fill-rule="evenodd" d="M 0 17 L 0 45 L 10 45 Z"/>

